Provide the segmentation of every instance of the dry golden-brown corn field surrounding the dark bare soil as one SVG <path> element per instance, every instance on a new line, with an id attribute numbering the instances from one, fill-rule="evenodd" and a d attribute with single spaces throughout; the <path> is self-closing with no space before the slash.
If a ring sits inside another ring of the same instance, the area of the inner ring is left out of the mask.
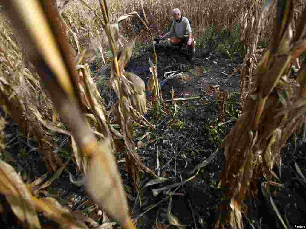
<path id="1" fill-rule="evenodd" d="M 61 228 L 137 228 L 142 215 L 133 215 L 115 155 L 124 155 L 125 171 L 137 196 L 135 203 L 141 202 L 144 187 L 168 180 L 139 156 L 141 144 L 135 144 L 138 138 L 134 139 L 140 123 L 148 129 L 159 128 L 147 121 L 145 114 L 151 112 L 154 119 L 161 119 L 166 102 L 154 45 L 154 58 L 147 63 L 147 86 L 125 67 L 134 47 L 153 44 L 158 34 L 170 29 L 171 10 L 180 8 L 190 20 L 196 41 L 207 39 L 208 31 L 226 32 L 237 35 L 235 43 L 244 50 L 243 63 L 235 66 L 241 75 L 241 115 L 221 145 L 225 165 L 218 188 L 224 190 L 224 203 L 218 207 L 214 223 L 215 228 L 244 228 L 245 203 L 256 199 L 259 191 L 268 198 L 271 186 L 281 186 L 275 182 L 282 171 L 281 150 L 293 134 L 305 128 L 305 5 L 304 0 L 196 0 L 192 4 L 186 0 L 0 1 L 0 155 L 6 155 L 9 146 L 5 141 L 5 117 L 9 115 L 25 138 L 36 139 L 36 150 L 47 167 L 47 173 L 28 183 L 4 156 L 0 158 L 2 217 L 14 215 L 26 228 L 45 227 L 39 213 Z M 267 46 L 259 48 L 263 41 L 268 41 Z M 90 60 L 98 54 L 106 65 L 106 51 L 111 54 L 107 85 L 118 98 L 110 106 L 89 68 Z M 152 93 L 151 106 L 146 91 Z M 229 98 L 228 91 L 220 93 L 222 123 Z M 113 119 L 116 122 L 111 122 Z M 55 133 L 67 139 L 65 161 L 59 156 L 62 144 L 54 140 Z M 85 187 L 96 208 L 101 209 L 103 221 L 98 223 L 61 205 L 47 191 L 42 197 L 43 189 L 58 179 L 69 163 L 84 178 L 70 181 Z M 169 201 L 167 219 L 173 227 L 188 226 L 171 213 L 172 198 L 178 188 L 196 178 L 199 168 L 188 179 L 181 176 L 176 186 L 155 189 L 158 195 L 176 188 L 162 199 Z M 143 174 L 151 177 L 146 185 Z M 306 183 L 302 172 L 299 174 Z M 261 186 L 259 177 L 264 177 Z M 277 210 L 275 215 L 284 228 L 289 227 Z M 168 228 L 162 225 L 166 224 L 156 220 L 154 228 Z M 193 228 L 198 228 L 196 223 Z"/>

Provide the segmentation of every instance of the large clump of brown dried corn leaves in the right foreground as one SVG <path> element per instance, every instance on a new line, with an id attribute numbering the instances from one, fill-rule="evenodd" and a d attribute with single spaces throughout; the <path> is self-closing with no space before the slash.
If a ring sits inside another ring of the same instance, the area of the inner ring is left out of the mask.
<path id="1" fill-rule="evenodd" d="M 271 43 L 258 64 L 253 90 L 223 143 L 226 162 L 221 185 L 226 187 L 229 204 L 220 206 L 215 228 L 227 223 L 232 228 L 243 228 L 244 201 L 251 194 L 257 195 L 259 176 L 266 179 L 261 187 L 264 193 L 272 178 L 279 180 L 272 168 L 276 164 L 281 175 L 280 150 L 305 120 L 305 65 L 300 68 L 297 81 L 289 78 L 289 71 L 296 58 L 306 51 L 306 9 L 293 34 L 293 1 L 278 1 L 276 8 Z"/>

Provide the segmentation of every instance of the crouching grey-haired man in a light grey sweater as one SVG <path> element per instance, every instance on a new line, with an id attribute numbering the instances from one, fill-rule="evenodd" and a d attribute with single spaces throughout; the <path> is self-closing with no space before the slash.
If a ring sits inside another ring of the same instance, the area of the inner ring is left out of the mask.
<path id="1" fill-rule="evenodd" d="M 186 17 L 183 17 L 181 10 L 177 8 L 172 10 L 172 17 L 174 18 L 174 21 L 170 31 L 167 34 L 162 35 L 160 38 L 171 38 L 170 44 L 178 45 L 179 50 L 181 50 L 183 44 L 186 44 L 189 54 L 191 55 L 190 60 L 194 60 L 196 56 L 196 42 L 191 37 L 192 31 L 189 20 Z"/>

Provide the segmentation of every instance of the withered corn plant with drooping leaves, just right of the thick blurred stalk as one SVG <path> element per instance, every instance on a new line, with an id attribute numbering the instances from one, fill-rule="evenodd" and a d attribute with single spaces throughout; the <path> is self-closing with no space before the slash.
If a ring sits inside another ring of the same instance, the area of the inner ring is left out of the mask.
<path id="1" fill-rule="evenodd" d="M 133 125 L 132 125 L 132 117 L 131 117 L 131 100 L 129 95 L 133 95 L 134 104 L 138 110 L 138 112 L 143 115 L 146 108 L 146 98 L 145 98 L 145 86 L 143 80 L 131 73 L 125 72 L 125 65 L 128 63 L 132 51 L 135 45 L 135 39 L 132 42 L 129 42 L 123 50 L 117 51 L 115 42 L 118 41 L 118 37 L 116 34 L 119 34 L 118 23 L 121 20 L 128 18 L 130 15 L 135 13 L 130 13 L 126 15 L 120 16 L 116 21 L 116 24 L 112 26 L 109 25 L 108 15 L 106 10 L 103 13 L 104 20 L 106 20 L 106 25 L 104 29 L 106 30 L 106 34 L 109 39 L 110 47 L 114 55 L 114 63 L 111 66 L 111 75 L 110 75 L 110 85 L 112 89 L 117 93 L 119 101 L 117 103 L 117 119 L 122 130 L 125 146 L 128 151 L 125 152 L 125 160 L 126 160 L 126 169 L 129 172 L 129 175 L 134 179 L 134 189 L 139 191 L 139 172 L 140 170 L 144 170 L 146 172 L 151 173 L 153 176 L 156 176 L 151 169 L 147 168 L 141 161 L 140 158 L 135 152 L 135 144 L 133 137 Z M 116 31 L 116 32 L 114 32 Z M 153 41 L 153 37 L 152 37 Z M 155 54 L 156 55 L 156 54 Z"/>

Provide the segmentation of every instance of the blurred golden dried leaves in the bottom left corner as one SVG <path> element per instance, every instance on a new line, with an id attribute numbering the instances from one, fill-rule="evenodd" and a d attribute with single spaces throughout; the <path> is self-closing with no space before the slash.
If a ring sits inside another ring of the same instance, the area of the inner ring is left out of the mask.
<path id="1" fill-rule="evenodd" d="M 2 160 L 0 160 L 0 178 L 0 193 L 5 195 L 7 202 L 1 204 L 9 204 L 20 222 L 28 228 L 43 228 L 38 213 L 43 213 L 60 228 L 88 228 L 84 222 L 93 221 L 63 208 L 53 198 L 36 198 L 13 167 Z"/>

